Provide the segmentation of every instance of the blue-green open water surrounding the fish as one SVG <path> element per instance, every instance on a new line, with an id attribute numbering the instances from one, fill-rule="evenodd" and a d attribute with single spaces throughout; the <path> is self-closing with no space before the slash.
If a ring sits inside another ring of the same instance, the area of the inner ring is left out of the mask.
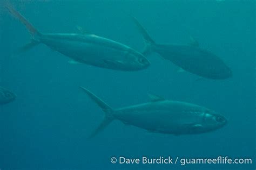
<path id="1" fill-rule="evenodd" d="M 255 169 L 255 1 L 12 1 L 43 33 L 79 33 L 76 26 L 143 49 L 131 16 L 161 44 L 187 44 L 190 36 L 232 69 L 226 80 L 197 80 L 158 54 L 151 66 L 122 72 L 71 65 L 68 57 L 30 42 L 25 27 L 0 7 L 0 86 L 16 93 L 1 105 L 0 169 Z M 147 94 L 195 103 L 228 119 L 219 130 L 173 136 L 120 121 L 88 138 L 104 113 L 78 86 L 113 108 L 149 101 Z M 110 158 L 252 158 L 253 164 L 124 165 Z"/>

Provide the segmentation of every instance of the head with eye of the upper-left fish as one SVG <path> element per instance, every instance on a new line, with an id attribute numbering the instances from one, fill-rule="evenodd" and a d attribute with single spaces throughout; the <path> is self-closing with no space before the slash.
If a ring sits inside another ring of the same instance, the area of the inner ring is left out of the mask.
<path id="1" fill-rule="evenodd" d="M 150 61 L 147 60 L 144 55 L 136 51 L 127 53 L 124 62 L 130 70 L 140 70 L 150 66 Z"/>

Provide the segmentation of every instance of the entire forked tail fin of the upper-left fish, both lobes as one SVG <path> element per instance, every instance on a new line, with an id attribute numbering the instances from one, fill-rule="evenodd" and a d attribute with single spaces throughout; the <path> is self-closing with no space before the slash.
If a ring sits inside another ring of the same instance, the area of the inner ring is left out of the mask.
<path id="1" fill-rule="evenodd" d="M 39 33 L 35 27 L 30 24 L 28 22 L 28 20 L 26 20 L 25 17 L 23 17 L 21 15 L 21 13 L 19 13 L 9 2 L 5 3 L 5 7 L 9 10 L 9 12 L 11 13 L 12 16 L 14 16 L 15 18 L 17 18 L 22 24 L 24 24 L 26 26 L 26 29 L 28 29 L 29 33 L 32 36 L 32 40 L 29 44 L 25 45 L 24 47 L 22 47 L 21 49 L 19 49 L 18 52 L 24 52 L 27 51 L 28 49 L 31 49 L 32 47 L 36 46 L 37 44 L 39 44 L 39 40 L 38 38 L 42 36 L 41 33 Z"/>

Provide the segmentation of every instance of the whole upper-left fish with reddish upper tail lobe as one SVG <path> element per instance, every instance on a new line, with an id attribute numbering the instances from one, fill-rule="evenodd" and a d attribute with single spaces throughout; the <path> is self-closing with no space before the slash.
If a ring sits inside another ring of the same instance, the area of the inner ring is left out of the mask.
<path id="1" fill-rule="evenodd" d="M 150 62 L 134 49 L 94 34 L 39 33 L 10 4 L 6 4 L 6 8 L 26 26 L 32 35 L 31 43 L 24 46 L 22 51 L 42 43 L 69 56 L 73 60 L 72 63 L 80 62 L 96 67 L 126 71 L 145 69 L 150 65 Z"/>

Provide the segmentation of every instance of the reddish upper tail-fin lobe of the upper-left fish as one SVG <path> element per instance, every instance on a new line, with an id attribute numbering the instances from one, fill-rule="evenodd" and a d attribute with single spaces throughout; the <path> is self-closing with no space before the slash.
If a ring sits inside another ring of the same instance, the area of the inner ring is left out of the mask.
<path id="1" fill-rule="evenodd" d="M 28 20 L 26 20 L 25 17 L 23 17 L 21 15 L 21 13 L 16 11 L 16 9 L 10 3 L 6 3 L 5 7 L 9 10 L 9 12 L 11 13 L 12 16 L 16 17 L 22 24 L 24 24 L 26 26 L 26 29 L 28 29 L 28 31 L 30 32 L 30 34 L 32 35 L 33 38 L 35 36 L 41 36 L 41 33 L 39 33 L 35 29 L 35 27 L 32 24 L 30 24 L 28 22 Z"/>

